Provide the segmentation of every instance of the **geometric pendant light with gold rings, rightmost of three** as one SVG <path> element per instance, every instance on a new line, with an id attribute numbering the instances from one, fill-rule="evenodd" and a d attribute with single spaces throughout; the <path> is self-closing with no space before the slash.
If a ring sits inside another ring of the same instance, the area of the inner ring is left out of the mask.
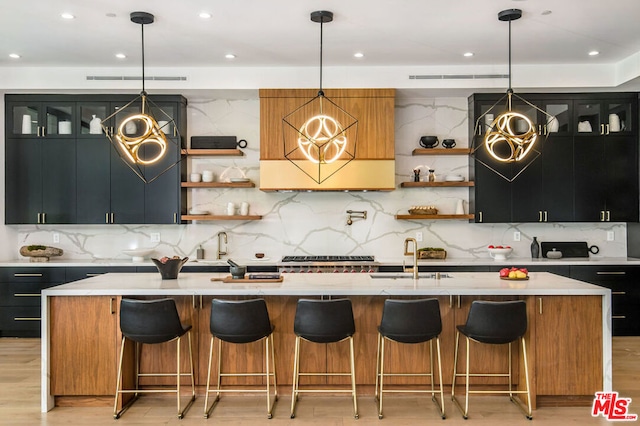
<path id="1" fill-rule="evenodd" d="M 541 112 L 553 119 L 546 111 L 516 95 L 511 87 L 511 21 L 521 16 L 520 9 L 507 9 L 498 13 L 499 21 L 509 23 L 509 88 L 505 96 L 476 120 L 474 135 L 480 135 L 483 127 L 486 130 L 482 140 L 473 144 L 471 152 L 473 155 L 480 149 L 484 150 L 487 155 L 475 155 L 476 160 L 510 182 L 540 156 L 539 147 L 547 137 L 547 134 L 538 134 L 536 125 L 529 117 L 513 109 L 513 99 L 532 107 L 536 115 Z M 492 119 L 492 113 L 501 109 L 499 105 L 505 99 L 506 107 Z"/>

